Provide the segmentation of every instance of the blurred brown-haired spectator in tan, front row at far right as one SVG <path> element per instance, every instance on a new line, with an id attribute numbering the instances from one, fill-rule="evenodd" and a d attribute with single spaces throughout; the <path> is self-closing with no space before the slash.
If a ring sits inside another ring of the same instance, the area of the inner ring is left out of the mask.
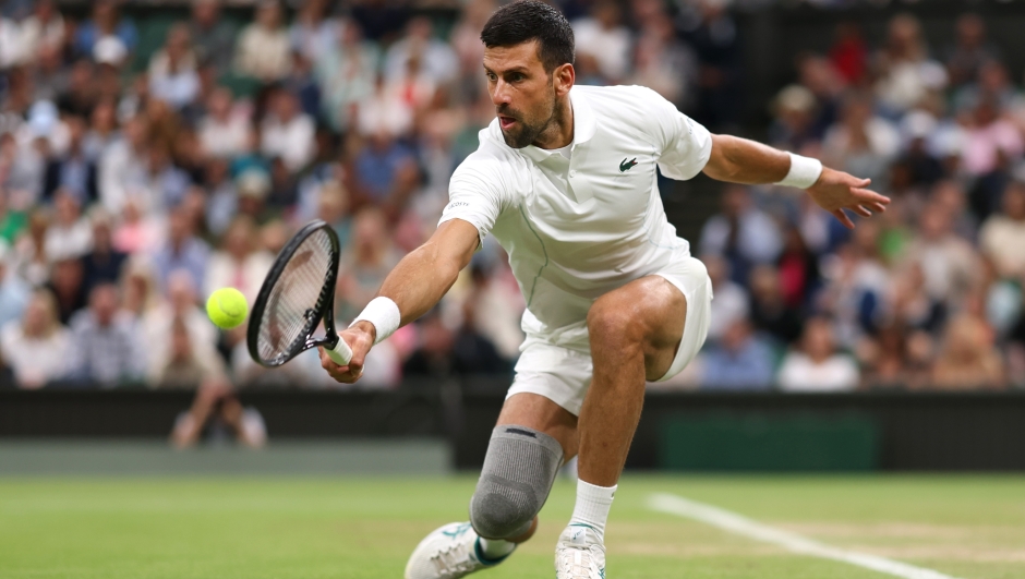
<path id="1" fill-rule="evenodd" d="M 951 319 L 928 386 L 938 389 L 996 389 L 1006 385 L 993 333 L 972 315 Z"/>

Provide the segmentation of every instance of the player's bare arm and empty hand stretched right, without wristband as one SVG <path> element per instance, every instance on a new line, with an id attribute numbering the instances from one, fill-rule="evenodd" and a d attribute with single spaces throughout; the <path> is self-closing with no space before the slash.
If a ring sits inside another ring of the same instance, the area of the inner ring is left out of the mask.
<path id="1" fill-rule="evenodd" d="M 704 166 L 704 174 L 731 183 L 779 183 L 791 174 L 793 158 L 788 153 L 746 138 L 712 135 L 712 154 Z M 836 216 L 844 226 L 853 228 L 854 221 L 844 214 L 844 209 L 869 217 L 872 213 L 887 210 L 890 204 L 888 197 L 865 189 L 870 182 L 870 179 L 858 179 L 822 167 L 818 180 L 806 189 L 820 207 Z"/>

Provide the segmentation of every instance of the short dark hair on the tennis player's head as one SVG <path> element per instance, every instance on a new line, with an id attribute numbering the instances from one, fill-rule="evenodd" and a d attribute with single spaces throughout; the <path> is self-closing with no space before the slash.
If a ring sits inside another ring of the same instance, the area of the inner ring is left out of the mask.
<path id="1" fill-rule="evenodd" d="M 481 31 L 487 48 L 515 46 L 538 40 L 538 56 L 544 70 L 572 64 L 572 27 L 556 8 L 539 0 L 516 0 L 495 11 Z"/>

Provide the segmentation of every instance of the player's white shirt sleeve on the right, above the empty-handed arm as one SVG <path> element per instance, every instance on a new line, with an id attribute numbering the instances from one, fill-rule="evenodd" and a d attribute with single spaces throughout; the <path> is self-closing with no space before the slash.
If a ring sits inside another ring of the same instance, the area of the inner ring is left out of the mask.
<path id="1" fill-rule="evenodd" d="M 690 117 L 676 110 L 676 106 L 651 89 L 644 91 L 650 100 L 655 134 L 662 156 L 662 174 L 680 181 L 692 179 L 704 169 L 712 155 L 712 134 Z"/>

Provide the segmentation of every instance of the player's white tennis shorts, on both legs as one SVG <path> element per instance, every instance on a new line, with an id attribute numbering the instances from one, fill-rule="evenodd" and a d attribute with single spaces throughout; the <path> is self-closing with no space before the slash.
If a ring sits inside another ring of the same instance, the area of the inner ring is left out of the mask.
<path id="1" fill-rule="evenodd" d="M 684 336 L 668 372 L 658 381 L 662 382 L 679 374 L 704 343 L 711 317 L 712 281 L 704 264 L 689 256 L 654 275 L 665 278 L 687 299 Z M 591 386 L 594 369 L 591 354 L 534 336 L 528 336 L 521 351 L 506 399 L 520 393 L 538 394 L 579 415 Z"/>

